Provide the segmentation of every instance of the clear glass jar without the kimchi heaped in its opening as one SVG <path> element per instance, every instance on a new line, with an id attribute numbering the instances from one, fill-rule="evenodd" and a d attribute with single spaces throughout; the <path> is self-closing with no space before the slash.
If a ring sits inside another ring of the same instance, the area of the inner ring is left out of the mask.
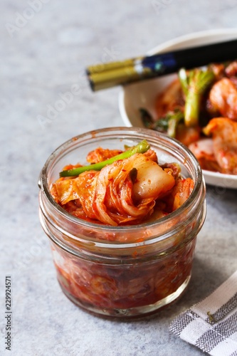
<path id="1" fill-rule="evenodd" d="M 66 164 L 86 164 L 97 147 L 124 150 L 146 139 L 159 164 L 177 162 L 194 179 L 189 199 L 157 221 L 131 226 L 93 224 L 69 214 L 50 193 Z M 152 130 L 112 127 L 73 137 L 53 152 L 39 179 L 40 220 L 53 252 L 58 282 L 76 305 L 97 315 L 130 318 L 154 313 L 186 289 L 196 235 L 206 216 L 205 184 L 194 155 Z"/>

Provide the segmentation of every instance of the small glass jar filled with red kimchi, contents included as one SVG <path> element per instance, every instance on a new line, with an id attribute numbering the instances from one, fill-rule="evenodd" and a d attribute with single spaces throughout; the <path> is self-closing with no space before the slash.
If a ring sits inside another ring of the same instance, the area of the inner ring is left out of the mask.
<path id="1" fill-rule="evenodd" d="M 146 153 L 59 178 L 63 169 L 87 166 L 88 154 L 89 164 L 95 164 L 98 147 L 106 158 L 117 157 L 144 140 Z M 129 173 L 123 178 L 125 167 Z M 155 197 L 146 184 L 159 188 Z M 39 187 L 40 220 L 58 282 L 76 305 L 97 315 L 131 318 L 154 313 L 184 293 L 206 216 L 201 169 L 184 145 L 135 127 L 87 132 L 53 152 Z"/>

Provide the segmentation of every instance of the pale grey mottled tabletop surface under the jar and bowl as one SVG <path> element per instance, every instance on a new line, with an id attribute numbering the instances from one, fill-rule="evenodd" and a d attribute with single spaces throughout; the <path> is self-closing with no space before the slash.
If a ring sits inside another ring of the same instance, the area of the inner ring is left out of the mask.
<path id="1" fill-rule="evenodd" d="M 236 271 L 237 191 L 207 187 L 206 222 L 183 298 L 153 317 L 123 323 L 85 313 L 61 292 L 38 220 L 37 181 L 65 140 L 124 125 L 120 88 L 92 93 L 85 66 L 138 56 L 186 33 L 233 28 L 236 0 L 4 0 L 0 6 L 0 355 L 9 355 L 5 276 L 12 280 L 11 355 L 203 355 L 168 328 Z"/>

